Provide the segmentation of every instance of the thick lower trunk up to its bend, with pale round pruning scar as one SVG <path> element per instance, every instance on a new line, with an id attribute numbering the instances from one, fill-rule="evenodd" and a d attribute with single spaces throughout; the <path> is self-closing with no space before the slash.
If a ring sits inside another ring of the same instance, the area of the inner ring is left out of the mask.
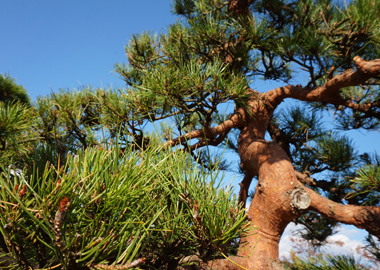
<path id="1" fill-rule="evenodd" d="M 247 269 L 278 269 L 279 241 L 285 227 L 310 205 L 285 152 L 275 143 L 257 139 L 242 156 L 245 170 L 256 170 L 258 185 L 248 210 L 255 234 L 242 239 L 239 252 Z"/>

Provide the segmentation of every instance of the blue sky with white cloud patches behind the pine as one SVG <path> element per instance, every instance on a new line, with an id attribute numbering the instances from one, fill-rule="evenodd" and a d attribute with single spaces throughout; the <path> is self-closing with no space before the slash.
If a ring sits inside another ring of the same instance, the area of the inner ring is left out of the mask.
<path id="1" fill-rule="evenodd" d="M 171 0 L 3 0 L 0 73 L 15 78 L 33 101 L 39 95 L 84 85 L 123 87 L 123 81 L 113 73 L 113 66 L 126 62 L 124 45 L 131 35 L 165 31 L 176 19 L 171 13 Z M 253 87 L 266 91 L 281 85 L 255 82 Z M 378 132 L 347 134 L 360 152 L 379 150 Z M 293 225 L 281 242 L 281 256 L 286 256 L 294 245 L 291 229 L 294 230 Z M 352 226 L 343 226 L 331 240 L 338 239 L 344 246 L 330 245 L 325 251 L 343 254 L 355 251 L 364 235 Z"/>

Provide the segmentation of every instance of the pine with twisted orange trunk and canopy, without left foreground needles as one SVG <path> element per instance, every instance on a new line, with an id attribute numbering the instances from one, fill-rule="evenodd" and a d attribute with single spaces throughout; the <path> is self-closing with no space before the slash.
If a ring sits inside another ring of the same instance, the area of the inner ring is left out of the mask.
<path id="1" fill-rule="evenodd" d="M 242 239 L 248 247 L 229 269 L 275 268 L 293 220 L 317 245 L 338 222 L 379 237 L 378 165 L 365 165 L 353 142 L 326 130 L 320 116 L 333 112 L 337 129 L 379 128 L 380 3 L 177 0 L 173 10 L 180 20 L 159 36 L 132 37 L 128 64 L 116 68 L 131 87 L 136 119 L 176 117 L 181 132 L 165 145 L 199 158 L 202 147 L 238 133 L 239 200 L 245 205 L 257 178 L 248 218 L 258 233 Z M 258 79 L 279 87 L 262 93 Z M 289 98 L 304 105 L 276 110 Z M 222 116 L 225 103 L 235 110 Z"/>

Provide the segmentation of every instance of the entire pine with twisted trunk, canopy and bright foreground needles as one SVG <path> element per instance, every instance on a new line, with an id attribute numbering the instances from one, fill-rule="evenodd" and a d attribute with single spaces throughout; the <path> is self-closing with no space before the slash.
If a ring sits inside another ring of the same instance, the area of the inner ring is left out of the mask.
<path id="1" fill-rule="evenodd" d="M 16 104 L 30 115 L 22 130 L 4 122 L 0 158 L 29 177 L 1 178 L 11 262 L 176 269 L 195 254 L 192 267 L 282 269 L 292 221 L 316 247 L 338 223 L 365 229 L 378 258 L 380 158 L 339 131 L 380 127 L 380 2 L 175 0 L 173 12 L 167 31 L 126 46 L 125 89 L 61 91 Z M 240 157 L 240 206 L 207 176 L 226 146 Z"/>

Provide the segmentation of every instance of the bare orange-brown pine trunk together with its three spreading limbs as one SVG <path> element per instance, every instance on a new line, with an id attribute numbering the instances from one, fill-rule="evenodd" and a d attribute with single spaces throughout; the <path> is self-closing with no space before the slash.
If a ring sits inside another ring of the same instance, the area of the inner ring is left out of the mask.
<path id="1" fill-rule="evenodd" d="M 364 61 L 356 57 L 354 61 L 355 71 L 346 71 L 334 78 L 331 76 L 325 85 L 315 89 L 287 85 L 260 95 L 254 93 L 249 101 L 249 113 L 240 110 L 225 123 L 208 130 L 209 138 L 226 134 L 233 127 L 241 130 L 239 155 L 246 173 L 240 184 L 239 198 L 242 201 L 247 197 L 252 177 L 258 176 L 256 192 L 248 210 L 255 234 L 242 239 L 246 245 L 239 256 L 210 262 L 208 265 L 212 269 L 282 269 L 278 261 L 280 237 L 285 227 L 307 210 L 380 236 L 380 207 L 341 205 L 318 195 L 299 182 L 299 173 L 294 170 L 286 152 L 278 144 L 264 140 L 273 111 L 288 97 L 369 110 L 371 104 L 358 105 L 345 100 L 340 96 L 340 90 L 380 75 L 380 59 Z M 205 135 L 204 131 L 200 134 Z M 194 135 L 193 132 L 184 136 L 194 138 Z"/>

